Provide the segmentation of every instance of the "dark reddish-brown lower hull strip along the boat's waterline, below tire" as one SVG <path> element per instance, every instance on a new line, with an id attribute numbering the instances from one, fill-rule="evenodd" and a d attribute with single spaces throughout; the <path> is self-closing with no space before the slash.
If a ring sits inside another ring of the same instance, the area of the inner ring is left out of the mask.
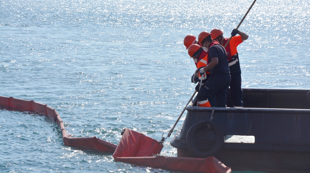
<path id="1" fill-rule="evenodd" d="M 178 157 L 195 157 L 188 149 L 177 149 Z M 234 171 L 310 172 L 310 154 L 221 149 L 215 158 Z"/>

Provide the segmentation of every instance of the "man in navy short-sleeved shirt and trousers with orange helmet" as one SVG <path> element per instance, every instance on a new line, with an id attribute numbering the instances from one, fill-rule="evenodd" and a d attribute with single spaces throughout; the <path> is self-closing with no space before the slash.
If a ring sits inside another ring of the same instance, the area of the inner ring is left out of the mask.
<path id="1" fill-rule="evenodd" d="M 230 83 L 227 54 L 222 45 L 213 41 L 210 32 L 201 32 L 198 41 L 207 50 L 207 64 L 200 68 L 200 73 L 210 72 L 210 77 L 201 86 L 197 94 L 197 101 L 201 102 L 208 98 L 210 106 L 225 107 L 227 101 L 227 89 Z"/>

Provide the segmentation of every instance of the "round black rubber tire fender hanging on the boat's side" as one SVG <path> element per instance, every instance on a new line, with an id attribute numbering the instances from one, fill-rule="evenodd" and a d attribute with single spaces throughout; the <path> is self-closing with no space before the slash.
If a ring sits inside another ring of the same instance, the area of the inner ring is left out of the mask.
<path id="1" fill-rule="evenodd" d="M 216 133 L 216 142 L 215 145 L 208 151 L 200 151 L 194 143 L 194 135 L 196 133 L 196 131 L 198 130 L 198 128 L 200 128 L 201 126 L 210 126 L 211 128 L 213 128 L 213 130 Z M 204 120 L 204 121 L 200 121 L 195 123 L 187 132 L 187 136 L 186 136 L 186 144 L 187 144 L 187 148 L 188 150 L 195 156 L 195 157 L 199 157 L 199 158 L 206 158 L 206 157 L 210 157 L 213 156 L 216 152 L 219 151 L 219 149 L 221 148 L 222 144 L 224 143 L 224 135 L 222 130 L 220 129 L 219 125 L 217 125 L 216 123 L 214 123 L 211 120 Z"/>

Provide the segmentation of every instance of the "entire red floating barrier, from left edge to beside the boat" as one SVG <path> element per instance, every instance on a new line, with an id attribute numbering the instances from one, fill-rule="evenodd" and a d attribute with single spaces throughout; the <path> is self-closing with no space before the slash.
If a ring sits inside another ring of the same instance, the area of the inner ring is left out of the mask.
<path id="1" fill-rule="evenodd" d="M 42 103 L 16 99 L 13 97 L 0 96 L 0 105 L 14 109 L 28 110 L 44 114 L 54 119 L 61 129 L 64 145 L 73 147 L 85 147 L 96 149 L 102 152 L 114 152 L 113 158 L 117 162 L 126 162 L 138 166 L 160 168 L 168 171 L 181 172 L 204 172 L 204 173 L 231 173 L 215 157 L 208 158 L 185 158 L 156 156 L 161 152 L 163 145 L 160 141 L 154 140 L 142 133 L 125 128 L 123 136 L 118 145 L 103 141 L 94 137 L 68 137 L 58 112 Z"/>

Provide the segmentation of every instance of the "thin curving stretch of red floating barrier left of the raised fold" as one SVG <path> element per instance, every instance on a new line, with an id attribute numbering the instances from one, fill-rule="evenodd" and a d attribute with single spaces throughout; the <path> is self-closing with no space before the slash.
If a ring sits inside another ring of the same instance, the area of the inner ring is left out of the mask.
<path id="1" fill-rule="evenodd" d="M 69 137 L 67 136 L 66 130 L 64 129 L 64 123 L 62 122 L 58 112 L 47 105 L 42 103 L 34 102 L 33 100 L 22 100 L 13 97 L 3 97 L 0 96 L 0 105 L 11 107 L 18 110 L 27 110 L 30 112 L 46 115 L 53 118 L 57 122 L 59 128 L 61 129 L 62 140 L 64 145 L 72 147 L 85 147 L 88 149 L 96 149 L 102 152 L 113 153 L 117 145 L 103 141 L 101 139 L 94 137 Z"/>

